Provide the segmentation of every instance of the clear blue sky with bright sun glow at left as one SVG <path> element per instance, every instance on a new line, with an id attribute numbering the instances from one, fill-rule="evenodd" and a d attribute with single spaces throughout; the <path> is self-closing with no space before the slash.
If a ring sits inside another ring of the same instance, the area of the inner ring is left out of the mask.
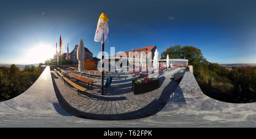
<path id="1" fill-rule="evenodd" d="M 82 39 L 97 57 L 102 12 L 109 18 L 109 54 L 110 47 L 117 53 L 156 45 L 163 52 L 179 44 L 201 49 L 209 62 L 256 63 L 255 7 L 249 0 L 0 1 L 0 63 L 44 62 L 56 43 L 59 51 L 60 35 L 63 52 Z"/>

